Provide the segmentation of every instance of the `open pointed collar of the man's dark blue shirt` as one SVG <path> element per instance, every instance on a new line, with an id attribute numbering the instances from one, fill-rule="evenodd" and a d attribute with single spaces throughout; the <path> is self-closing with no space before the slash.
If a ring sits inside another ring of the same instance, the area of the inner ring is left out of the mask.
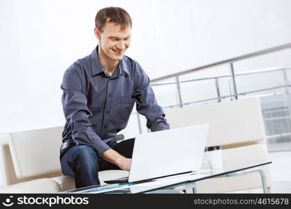
<path id="1" fill-rule="evenodd" d="M 103 65 L 101 64 L 99 60 L 97 52 L 98 52 L 98 45 L 90 55 L 92 77 L 103 72 Z M 117 70 L 119 70 L 120 75 L 122 75 L 123 72 L 126 72 L 128 74 L 128 68 L 127 68 L 126 62 L 124 61 L 124 58 L 122 58 L 121 61 L 119 62 L 119 65 L 117 66 Z"/>

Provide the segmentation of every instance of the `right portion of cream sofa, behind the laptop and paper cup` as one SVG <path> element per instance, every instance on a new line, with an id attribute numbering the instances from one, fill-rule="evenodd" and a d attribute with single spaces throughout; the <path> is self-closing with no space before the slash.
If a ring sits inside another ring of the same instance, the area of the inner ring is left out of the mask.
<path id="1" fill-rule="evenodd" d="M 239 164 L 248 167 L 256 162 L 267 162 L 264 125 L 259 98 L 247 98 L 215 104 L 193 105 L 166 109 L 171 128 L 209 123 L 207 146 L 222 146 L 223 167 Z M 269 165 L 261 167 L 267 187 L 271 187 Z M 209 169 L 204 157 L 202 169 Z M 227 178 L 212 178 L 197 183 L 198 193 L 223 193 L 262 187 L 259 173 Z"/>

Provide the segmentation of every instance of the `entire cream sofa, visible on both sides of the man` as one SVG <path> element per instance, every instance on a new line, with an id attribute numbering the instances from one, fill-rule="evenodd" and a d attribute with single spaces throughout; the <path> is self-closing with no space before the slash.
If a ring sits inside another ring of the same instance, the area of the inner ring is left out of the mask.
<path id="1" fill-rule="evenodd" d="M 267 162 L 264 127 L 258 98 L 166 109 L 172 128 L 210 123 L 207 146 L 223 146 L 223 166 L 241 167 Z M 59 148 L 63 127 L 0 134 L 0 193 L 54 193 L 75 188 L 74 179 L 63 176 Z M 208 169 L 206 159 L 202 164 Z M 271 187 L 269 166 L 262 167 Z M 128 176 L 127 171 L 100 171 L 100 183 Z M 214 178 L 197 183 L 198 193 L 233 192 L 262 187 L 258 173 Z"/>

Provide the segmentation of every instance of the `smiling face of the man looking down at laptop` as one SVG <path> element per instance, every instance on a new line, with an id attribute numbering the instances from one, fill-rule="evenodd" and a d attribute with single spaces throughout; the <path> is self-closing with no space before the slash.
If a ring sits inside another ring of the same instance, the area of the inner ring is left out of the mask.
<path id="1" fill-rule="evenodd" d="M 99 40 L 99 47 L 112 60 L 120 61 L 130 45 L 130 26 L 121 29 L 121 25 L 107 22 L 103 31 L 95 28 L 95 35 Z"/>

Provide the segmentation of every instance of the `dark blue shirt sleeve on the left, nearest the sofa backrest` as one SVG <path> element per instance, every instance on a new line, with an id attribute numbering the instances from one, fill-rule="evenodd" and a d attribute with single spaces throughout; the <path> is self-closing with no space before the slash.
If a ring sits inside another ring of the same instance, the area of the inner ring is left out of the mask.
<path id="1" fill-rule="evenodd" d="M 110 149 L 92 129 L 92 113 L 87 107 L 87 98 L 82 93 L 82 79 L 76 70 L 66 70 L 61 84 L 64 115 L 72 130 L 72 139 L 77 145 L 88 145 L 101 156 Z"/>

